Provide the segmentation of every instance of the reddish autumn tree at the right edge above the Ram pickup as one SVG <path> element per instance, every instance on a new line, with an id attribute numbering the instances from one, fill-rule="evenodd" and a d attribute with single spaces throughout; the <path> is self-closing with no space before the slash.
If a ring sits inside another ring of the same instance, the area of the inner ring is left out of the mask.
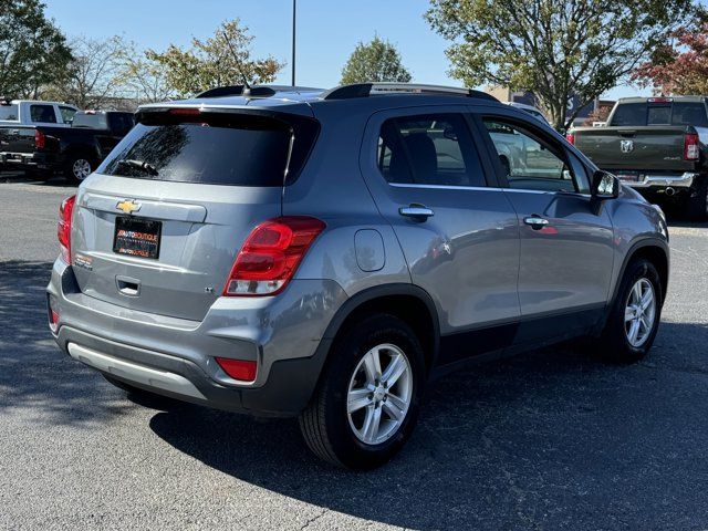
<path id="1" fill-rule="evenodd" d="M 679 28 L 641 64 L 634 80 L 660 94 L 708 94 L 708 22 Z"/>

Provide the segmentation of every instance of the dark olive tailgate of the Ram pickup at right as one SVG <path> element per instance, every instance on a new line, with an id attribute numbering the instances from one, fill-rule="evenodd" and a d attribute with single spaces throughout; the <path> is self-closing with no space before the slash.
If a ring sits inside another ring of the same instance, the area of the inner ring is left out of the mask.
<path id="1" fill-rule="evenodd" d="M 684 160 L 689 132 L 686 126 L 580 128 L 575 146 L 603 169 L 690 171 L 695 162 Z"/>

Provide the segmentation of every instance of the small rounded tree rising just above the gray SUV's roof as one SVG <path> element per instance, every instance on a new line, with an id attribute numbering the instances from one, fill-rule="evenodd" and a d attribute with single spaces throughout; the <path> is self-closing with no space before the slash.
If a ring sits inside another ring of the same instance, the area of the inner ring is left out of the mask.
<path id="1" fill-rule="evenodd" d="M 343 85 L 367 81 L 410 81 L 410 72 L 402 64 L 396 46 L 378 35 L 366 44 L 360 41 L 342 70 Z"/>

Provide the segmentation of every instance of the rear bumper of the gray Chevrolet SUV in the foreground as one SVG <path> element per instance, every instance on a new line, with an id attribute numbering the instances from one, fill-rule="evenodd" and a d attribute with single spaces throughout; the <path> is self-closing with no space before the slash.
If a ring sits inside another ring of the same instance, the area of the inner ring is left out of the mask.
<path id="1" fill-rule="evenodd" d="M 296 280 L 278 298 L 219 299 L 204 321 L 185 322 L 84 295 L 62 260 L 48 293 L 54 339 L 73 358 L 153 393 L 266 416 L 306 406 L 331 342 L 324 330 L 345 300 L 336 282 Z M 230 378 L 217 356 L 257 361 L 256 381 Z"/>

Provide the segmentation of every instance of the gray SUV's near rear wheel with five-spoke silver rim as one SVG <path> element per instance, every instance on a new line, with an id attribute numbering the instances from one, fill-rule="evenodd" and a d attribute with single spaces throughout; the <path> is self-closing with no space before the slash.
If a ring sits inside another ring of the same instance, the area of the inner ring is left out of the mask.
<path id="1" fill-rule="evenodd" d="M 385 464 L 413 433 L 425 374 L 423 347 L 410 326 L 389 314 L 361 321 L 334 343 L 300 416 L 308 446 L 354 470 Z"/>

